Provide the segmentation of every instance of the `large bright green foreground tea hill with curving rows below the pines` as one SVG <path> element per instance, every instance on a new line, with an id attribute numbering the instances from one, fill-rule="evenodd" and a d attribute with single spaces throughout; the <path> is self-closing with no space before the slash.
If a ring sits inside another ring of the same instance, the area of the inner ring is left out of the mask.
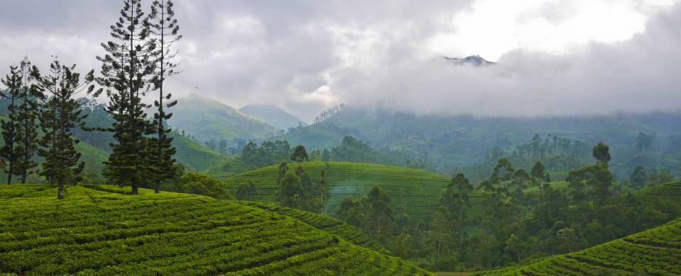
<path id="1" fill-rule="evenodd" d="M 116 190 L 116 188 L 111 188 Z M 277 212 L 172 192 L 0 187 L 10 275 L 427 275 Z"/>

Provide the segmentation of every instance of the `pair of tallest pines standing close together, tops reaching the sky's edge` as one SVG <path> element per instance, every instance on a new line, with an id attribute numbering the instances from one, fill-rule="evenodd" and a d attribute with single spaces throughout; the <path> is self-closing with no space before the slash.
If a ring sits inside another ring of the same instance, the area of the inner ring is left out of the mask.
<path id="1" fill-rule="evenodd" d="M 140 186 L 153 186 L 159 192 L 163 181 L 172 178 L 175 148 L 167 120 L 177 103 L 164 88 L 165 79 L 177 74 L 172 44 L 181 38 L 172 1 L 153 1 L 147 15 L 140 0 L 125 0 L 121 17 L 111 25 L 113 40 L 102 43 L 106 54 L 97 83 L 106 88 L 106 112 L 114 118 L 111 154 L 104 176 L 112 183 L 130 186 L 133 194 Z M 153 104 L 144 96 L 157 93 Z M 153 120 L 145 112 L 155 108 Z"/>

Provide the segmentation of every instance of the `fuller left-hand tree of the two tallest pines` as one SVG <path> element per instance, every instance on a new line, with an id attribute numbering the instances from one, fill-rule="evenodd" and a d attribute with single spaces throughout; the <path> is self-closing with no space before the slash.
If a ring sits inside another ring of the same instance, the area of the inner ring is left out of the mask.
<path id="1" fill-rule="evenodd" d="M 153 180 L 146 137 L 155 130 L 146 120 L 144 109 L 149 106 L 141 97 L 150 88 L 148 83 L 155 71 L 156 45 L 149 38 L 150 26 L 143 18 L 140 0 L 124 0 L 121 17 L 111 25 L 115 41 L 102 43 L 107 54 L 97 57 L 102 62 L 103 75 L 97 82 L 107 87 L 106 111 L 116 120 L 106 129 L 114 132 L 116 144 L 111 144 L 112 152 L 104 162 L 103 174 L 120 186 L 131 186 L 133 194 L 137 194 L 139 185 Z"/>

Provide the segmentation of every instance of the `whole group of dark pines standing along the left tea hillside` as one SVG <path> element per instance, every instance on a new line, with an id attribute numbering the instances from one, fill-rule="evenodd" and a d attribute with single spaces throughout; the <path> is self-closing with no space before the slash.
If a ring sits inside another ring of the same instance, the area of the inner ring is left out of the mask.
<path id="1" fill-rule="evenodd" d="M 130 186 L 133 194 L 140 185 L 159 192 L 160 185 L 174 177 L 175 149 L 167 127 L 172 113 L 167 109 L 177 100 L 164 86 L 178 73 L 173 44 L 182 38 L 173 3 L 153 1 L 145 9 L 141 0 L 124 0 L 120 14 L 110 27 L 112 39 L 101 43 L 106 54 L 96 57 L 101 62 L 99 76 L 92 70 L 82 78 L 75 65 L 62 65 L 57 57 L 48 74 L 41 74 L 28 59 L 10 67 L 2 81 L 6 89 L 1 96 L 9 106 L 0 151 L 8 184 L 12 176 L 26 182 L 26 175 L 38 167 L 33 159 L 37 151 L 45 158 L 37 172 L 57 184 L 57 196 L 63 198 L 64 186 L 77 183 L 84 168 L 74 149 L 79 143 L 74 132 L 81 131 L 112 134 L 111 154 L 102 173 L 111 183 Z M 113 121 L 85 127 L 84 108 L 93 108 L 90 100 L 100 95 L 108 98 L 104 110 Z M 155 100 L 146 103 L 145 96 Z M 150 108 L 151 118 L 145 112 Z M 38 127 L 43 132 L 40 138 Z"/>

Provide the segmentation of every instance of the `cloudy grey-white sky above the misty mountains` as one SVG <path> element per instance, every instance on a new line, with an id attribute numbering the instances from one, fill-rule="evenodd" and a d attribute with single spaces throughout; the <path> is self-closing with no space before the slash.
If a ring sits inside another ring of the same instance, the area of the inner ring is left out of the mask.
<path id="1" fill-rule="evenodd" d="M 111 40 L 109 25 L 122 3 L 0 0 L 0 70 L 23 56 L 45 70 L 58 56 L 99 72 L 100 43 Z M 272 103 L 308 122 L 338 103 L 479 116 L 681 110 L 678 0 L 176 0 L 175 6 L 182 73 L 166 87 L 179 97 L 193 93 L 236 108 Z M 497 64 L 443 59 L 476 54 Z"/>

